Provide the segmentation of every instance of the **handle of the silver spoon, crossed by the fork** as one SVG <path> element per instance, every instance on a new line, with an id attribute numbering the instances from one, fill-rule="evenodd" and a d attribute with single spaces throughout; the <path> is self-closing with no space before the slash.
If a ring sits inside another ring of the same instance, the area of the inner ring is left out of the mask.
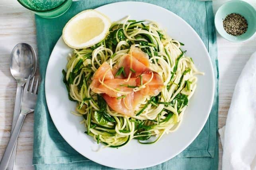
<path id="1" fill-rule="evenodd" d="M 15 126 L 15 124 L 18 120 L 19 114 L 20 114 L 22 93 L 23 93 L 23 84 L 17 83 L 17 91 L 16 91 L 15 104 L 14 104 L 14 113 L 13 113 L 13 118 L 12 118 L 12 131 L 14 129 L 14 126 Z M 12 152 L 12 156 L 10 158 L 7 170 L 14 170 L 16 147 L 17 147 L 17 142 L 14 146 L 14 150 Z"/>

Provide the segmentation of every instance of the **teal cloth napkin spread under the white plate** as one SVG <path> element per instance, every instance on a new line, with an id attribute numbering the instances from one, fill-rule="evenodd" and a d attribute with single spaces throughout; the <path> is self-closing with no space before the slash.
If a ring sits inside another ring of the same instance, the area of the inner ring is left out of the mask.
<path id="1" fill-rule="evenodd" d="M 77 153 L 54 126 L 45 101 L 45 71 L 53 47 L 66 22 L 82 10 L 120 0 L 81 0 L 72 3 L 64 15 L 45 19 L 35 16 L 41 86 L 34 116 L 33 165 L 35 170 L 107 170 L 109 168 Z M 203 40 L 213 64 L 216 93 L 211 114 L 197 138 L 176 157 L 148 170 L 217 170 L 218 168 L 218 61 L 212 2 L 196 0 L 142 0 L 162 6 L 187 21 Z M 131 9 L 132 10 L 132 9 Z M 167 19 L 167 18 L 166 18 Z"/>

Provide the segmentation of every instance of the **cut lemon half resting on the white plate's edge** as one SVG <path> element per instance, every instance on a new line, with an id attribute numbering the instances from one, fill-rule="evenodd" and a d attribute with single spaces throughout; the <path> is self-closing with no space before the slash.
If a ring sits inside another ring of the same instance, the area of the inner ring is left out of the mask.
<path id="1" fill-rule="evenodd" d="M 110 19 L 96 10 L 85 10 L 72 17 L 63 28 L 63 40 L 71 48 L 87 48 L 102 41 Z"/>

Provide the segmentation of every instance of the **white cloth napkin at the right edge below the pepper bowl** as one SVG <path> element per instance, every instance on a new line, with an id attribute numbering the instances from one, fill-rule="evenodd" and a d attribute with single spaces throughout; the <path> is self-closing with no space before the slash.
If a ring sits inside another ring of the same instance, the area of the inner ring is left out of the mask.
<path id="1" fill-rule="evenodd" d="M 256 52 L 238 78 L 226 126 L 219 134 L 223 170 L 256 170 Z"/>

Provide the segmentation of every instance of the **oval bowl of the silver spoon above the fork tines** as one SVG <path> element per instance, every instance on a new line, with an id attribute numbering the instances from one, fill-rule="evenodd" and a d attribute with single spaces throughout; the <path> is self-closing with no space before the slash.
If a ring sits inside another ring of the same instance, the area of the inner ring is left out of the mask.
<path id="1" fill-rule="evenodd" d="M 25 83 L 29 75 L 34 76 L 37 58 L 35 50 L 26 43 L 17 44 L 12 50 L 10 70 L 17 83 Z"/>

